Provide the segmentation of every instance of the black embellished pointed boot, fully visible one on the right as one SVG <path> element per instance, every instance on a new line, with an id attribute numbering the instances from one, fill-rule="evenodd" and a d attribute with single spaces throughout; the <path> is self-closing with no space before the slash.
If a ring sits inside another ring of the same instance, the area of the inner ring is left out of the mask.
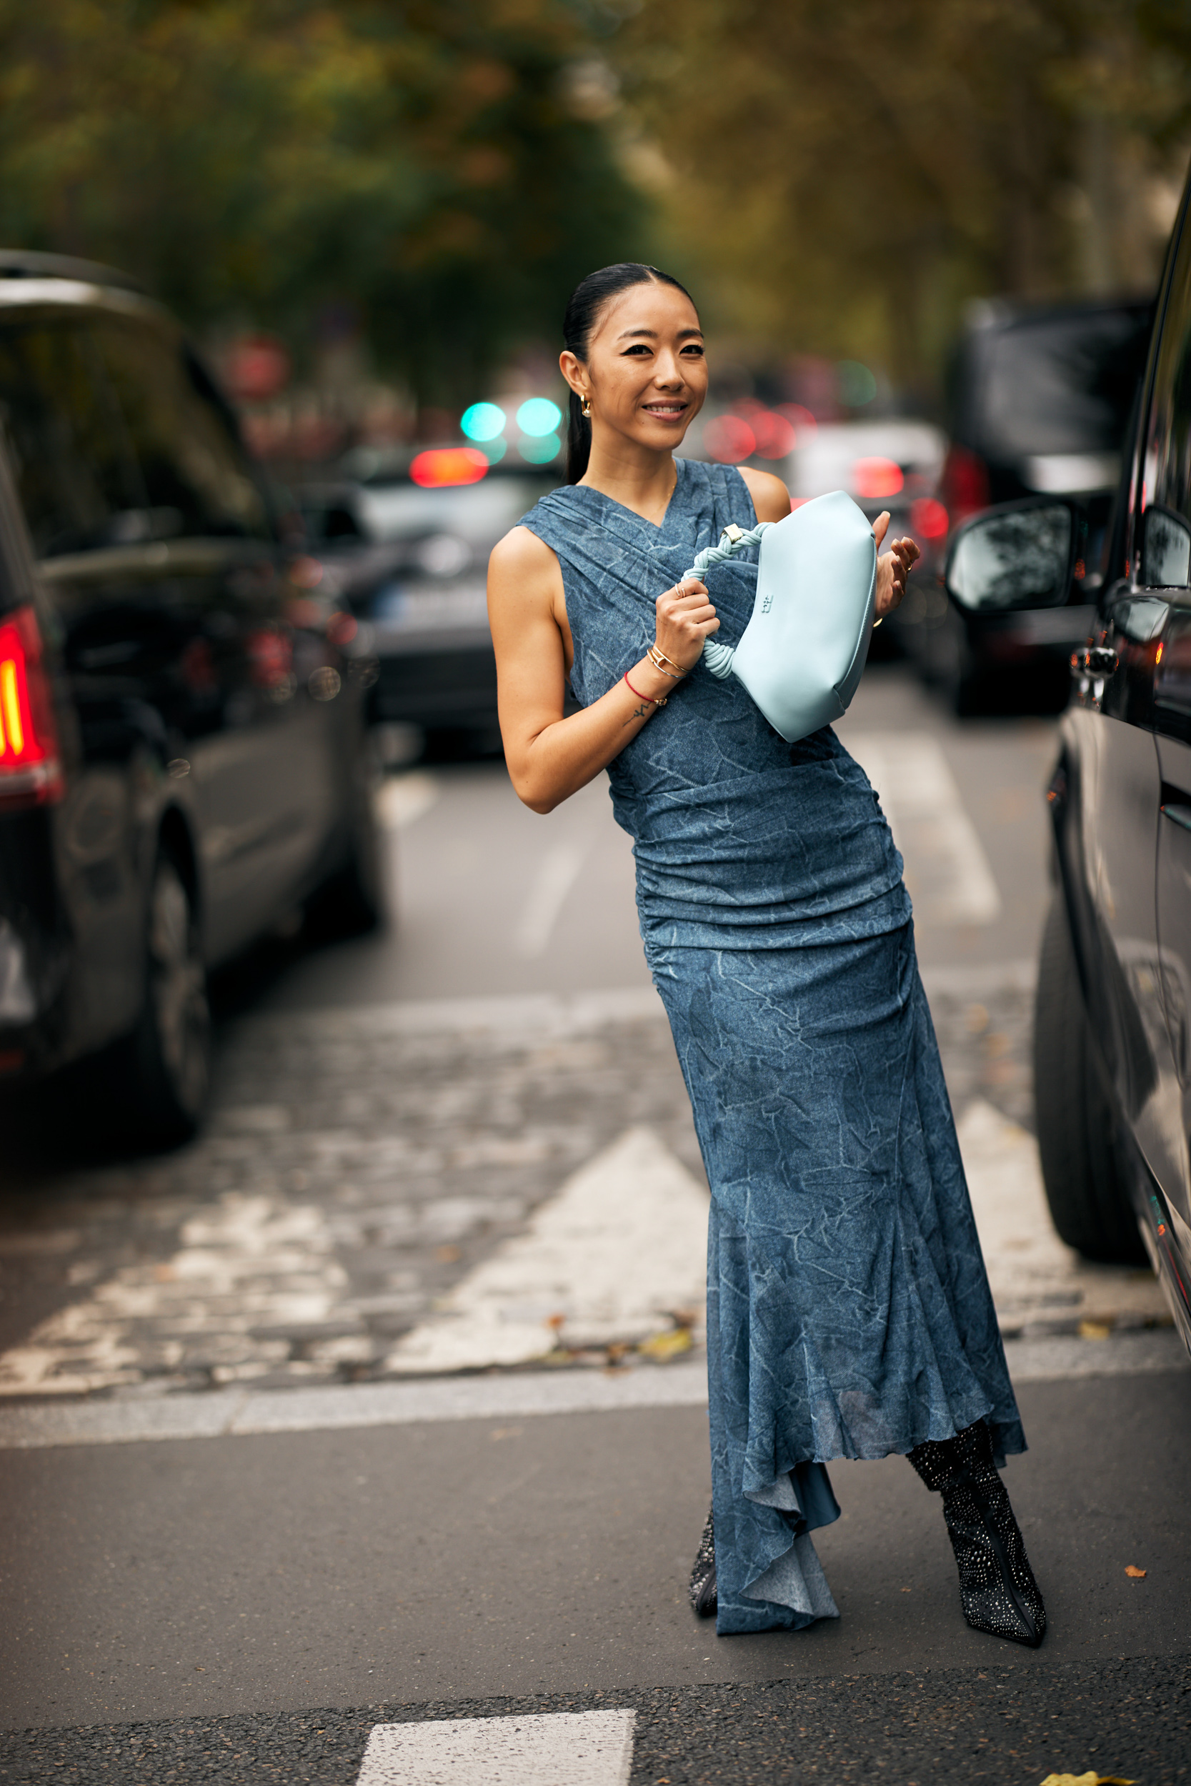
<path id="1" fill-rule="evenodd" d="M 943 1518 L 959 1566 L 959 1598 L 973 1631 L 1037 1648 L 1046 1634 L 1046 1607 L 993 1463 L 993 1440 L 982 1420 L 954 1440 L 927 1440 L 909 1461 L 943 1493 Z"/>

